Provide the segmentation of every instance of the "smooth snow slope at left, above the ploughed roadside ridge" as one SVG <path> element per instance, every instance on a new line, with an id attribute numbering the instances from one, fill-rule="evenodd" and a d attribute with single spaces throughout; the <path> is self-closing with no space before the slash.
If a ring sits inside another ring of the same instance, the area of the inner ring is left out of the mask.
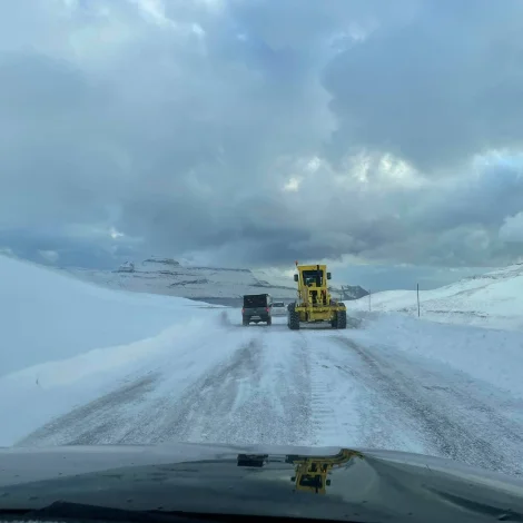
<path id="1" fill-rule="evenodd" d="M 198 313 L 184 298 L 109 290 L 0 256 L 0 376 L 145 339 Z"/>

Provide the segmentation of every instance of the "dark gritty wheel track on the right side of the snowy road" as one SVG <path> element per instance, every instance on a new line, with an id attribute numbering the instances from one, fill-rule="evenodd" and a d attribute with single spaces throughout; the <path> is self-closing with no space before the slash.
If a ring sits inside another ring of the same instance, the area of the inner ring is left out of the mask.
<path id="1" fill-rule="evenodd" d="M 364 365 L 363 369 L 339 368 L 378 392 L 384 418 L 389 417 L 391 409 L 407 417 L 409 426 L 417 426 L 426 453 L 492 471 L 522 473 L 523 426 L 497 412 L 493 394 L 489 398 L 487 393 L 471 396 L 460 386 L 463 375 L 451 368 L 443 374 L 435 371 L 436 366 L 424 368 L 397 351 L 393 358 L 346 337 L 334 339 L 354 352 Z"/>

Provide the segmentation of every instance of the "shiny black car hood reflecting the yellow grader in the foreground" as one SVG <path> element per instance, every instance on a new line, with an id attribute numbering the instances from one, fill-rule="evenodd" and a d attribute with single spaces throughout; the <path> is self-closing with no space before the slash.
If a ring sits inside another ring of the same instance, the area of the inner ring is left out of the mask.
<path id="1" fill-rule="evenodd" d="M 521 480 L 418 454 L 207 444 L 0 450 L 0 511 L 58 500 L 339 521 L 523 521 Z"/>

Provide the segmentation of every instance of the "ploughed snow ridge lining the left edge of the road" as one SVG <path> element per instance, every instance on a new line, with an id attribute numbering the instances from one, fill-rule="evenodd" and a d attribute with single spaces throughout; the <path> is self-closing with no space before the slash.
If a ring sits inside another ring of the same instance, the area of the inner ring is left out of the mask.
<path id="1" fill-rule="evenodd" d="M 249 335 L 248 329 L 230 326 L 227 312 L 207 312 L 156 337 L 89 351 L 0 377 L 0 418 L 10 421 L 0 432 L 0 446 L 13 445 L 77 406 L 106 394 L 110 399 L 110 394 L 126 384 L 137 388 L 141 384 L 145 394 L 159 394 L 161 383 L 168 381 L 169 389 L 164 394 L 177 396 L 195 376 L 234 353 Z"/>

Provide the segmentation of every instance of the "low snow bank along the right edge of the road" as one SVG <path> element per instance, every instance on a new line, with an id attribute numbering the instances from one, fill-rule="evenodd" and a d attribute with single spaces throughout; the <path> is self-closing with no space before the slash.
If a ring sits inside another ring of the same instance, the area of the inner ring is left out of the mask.
<path id="1" fill-rule="evenodd" d="M 361 313 L 355 341 L 394 347 L 450 365 L 468 376 L 523 397 L 523 338 L 520 333 L 442 325 L 397 313 Z"/>

